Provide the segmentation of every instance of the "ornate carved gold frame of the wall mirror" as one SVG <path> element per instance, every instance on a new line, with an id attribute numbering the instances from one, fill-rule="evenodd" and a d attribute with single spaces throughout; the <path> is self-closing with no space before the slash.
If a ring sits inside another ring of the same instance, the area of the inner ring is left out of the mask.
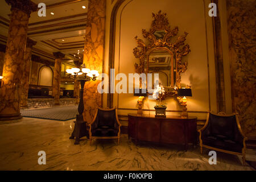
<path id="1" fill-rule="evenodd" d="M 184 32 L 184 35 L 179 36 L 175 42 L 171 42 L 171 38 L 177 35 L 179 28 L 175 27 L 171 30 L 170 24 L 166 17 L 166 13 L 162 13 L 161 10 L 158 12 L 158 14 L 152 13 L 152 17 L 154 18 L 154 20 L 151 23 L 150 31 L 142 29 L 143 37 L 149 40 L 150 43 L 146 45 L 142 39 L 138 39 L 138 36 L 135 36 L 135 40 L 137 40 L 138 46 L 133 49 L 133 53 L 134 56 L 140 60 L 139 64 L 134 64 L 135 72 L 139 74 L 144 73 L 144 61 L 147 60 L 148 67 L 148 56 L 152 51 L 156 49 L 165 49 L 169 53 L 172 52 L 172 75 L 174 75 L 174 61 L 176 63 L 175 84 L 176 87 L 179 88 L 181 82 L 181 73 L 184 73 L 187 70 L 188 65 L 187 62 L 181 63 L 181 58 L 191 52 L 189 45 L 184 43 L 188 33 Z M 160 30 L 164 30 L 166 32 L 163 39 L 157 39 L 154 35 L 155 31 Z M 175 95 L 177 93 L 172 86 L 167 86 L 164 88 L 169 94 Z"/>

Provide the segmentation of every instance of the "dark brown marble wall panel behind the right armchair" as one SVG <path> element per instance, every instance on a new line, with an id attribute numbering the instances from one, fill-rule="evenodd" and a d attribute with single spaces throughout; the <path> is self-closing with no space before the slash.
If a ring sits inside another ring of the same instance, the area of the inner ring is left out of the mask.
<path id="1" fill-rule="evenodd" d="M 256 1 L 226 3 L 233 111 L 239 113 L 247 137 L 256 137 Z"/>

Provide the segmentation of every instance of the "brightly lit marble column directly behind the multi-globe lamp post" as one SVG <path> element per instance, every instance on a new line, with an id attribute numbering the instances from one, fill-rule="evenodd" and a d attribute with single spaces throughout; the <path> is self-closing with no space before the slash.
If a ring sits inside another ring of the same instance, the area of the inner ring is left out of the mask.
<path id="1" fill-rule="evenodd" d="M 86 68 L 97 70 L 102 73 L 104 68 L 104 38 L 106 21 L 106 1 L 90 0 L 88 3 L 87 27 L 84 46 L 84 64 Z M 90 122 L 96 107 L 101 106 L 101 97 L 97 93 L 98 81 L 85 83 L 84 92 L 84 121 Z M 95 96 L 91 96 L 94 92 Z M 97 98 L 96 98 L 97 96 Z M 85 99 L 86 98 L 86 99 Z M 100 98 L 100 99 L 98 99 Z"/>

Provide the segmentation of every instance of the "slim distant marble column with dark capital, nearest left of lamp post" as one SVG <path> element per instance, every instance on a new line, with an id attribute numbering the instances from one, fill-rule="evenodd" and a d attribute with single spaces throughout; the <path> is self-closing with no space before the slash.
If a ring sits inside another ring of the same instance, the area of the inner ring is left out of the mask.
<path id="1" fill-rule="evenodd" d="M 61 52 L 53 52 L 55 56 L 55 65 L 53 73 L 53 89 L 52 96 L 54 97 L 54 104 L 60 105 L 60 78 L 61 78 L 61 61 L 65 55 Z"/>

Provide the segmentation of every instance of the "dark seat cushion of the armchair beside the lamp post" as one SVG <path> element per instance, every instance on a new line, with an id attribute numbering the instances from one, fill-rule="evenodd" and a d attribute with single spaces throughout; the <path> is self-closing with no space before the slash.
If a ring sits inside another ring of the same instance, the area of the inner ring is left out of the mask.
<path id="1" fill-rule="evenodd" d="M 118 135 L 117 129 L 109 126 L 100 126 L 97 129 L 92 131 L 93 137 L 117 137 Z"/>

